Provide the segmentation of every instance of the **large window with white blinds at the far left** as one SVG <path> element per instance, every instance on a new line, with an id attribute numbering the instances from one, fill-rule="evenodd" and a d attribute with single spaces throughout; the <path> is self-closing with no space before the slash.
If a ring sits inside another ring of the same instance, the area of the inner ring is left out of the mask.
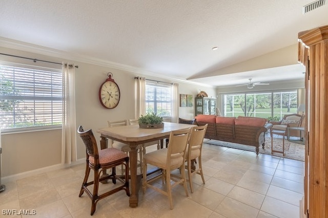
<path id="1" fill-rule="evenodd" d="M 61 70 L 0 65 L 2 129 L 58 127 L 63 117 L 62 100 Z"/>

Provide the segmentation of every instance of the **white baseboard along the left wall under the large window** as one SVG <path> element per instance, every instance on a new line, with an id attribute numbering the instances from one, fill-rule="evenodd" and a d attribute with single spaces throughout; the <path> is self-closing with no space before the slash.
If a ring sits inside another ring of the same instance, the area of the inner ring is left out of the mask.
<path id="1" fill-rule="evenodd" d="M 16 181 L 19 179 L 23 179 L 25 177 L 35 176 L 40 173 L 45 173 L 45 172 L 49 172 L 49 171 L 56 170 L 56 169 L 63 169 L 66 167 L 74 166 L 74 165 L 85 163 L 85 162 L 86 162 L 86 159 L 81 158 L 70 164 L 56 164 L 56 165 L 52 165 L 52 166 L 47 166 L 47 167 L 43 167 L 43 168 L 39 168 L 39 169 L 30 170 L 27 172 L 17 173 L 15 175 L 10 175 L 10 176 L 1 178 L 1 183 L 6 185 L 5 183 L 11 182 L 11 181 Z"/>

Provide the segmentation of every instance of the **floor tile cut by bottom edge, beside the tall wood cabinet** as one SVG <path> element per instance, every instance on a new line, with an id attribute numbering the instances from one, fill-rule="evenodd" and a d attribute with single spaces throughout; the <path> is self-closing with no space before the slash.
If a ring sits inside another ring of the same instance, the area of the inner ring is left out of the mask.
<path id="1" fill-rule="evenodd" d="M 280 218 L 298 218 L 299 207 L 279 201 L 271 197 L 265 197 L 261 210 Z"/>

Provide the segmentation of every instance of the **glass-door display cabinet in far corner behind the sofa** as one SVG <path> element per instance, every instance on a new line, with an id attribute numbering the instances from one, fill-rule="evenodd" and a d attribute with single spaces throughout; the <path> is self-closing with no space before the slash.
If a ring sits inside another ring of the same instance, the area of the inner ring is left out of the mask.
<path id="1" fill-rule="evenodd" d="M 215 115 L 216 98 L 196 97 L 195 98 L 195 116 L 198 114 Z"/>

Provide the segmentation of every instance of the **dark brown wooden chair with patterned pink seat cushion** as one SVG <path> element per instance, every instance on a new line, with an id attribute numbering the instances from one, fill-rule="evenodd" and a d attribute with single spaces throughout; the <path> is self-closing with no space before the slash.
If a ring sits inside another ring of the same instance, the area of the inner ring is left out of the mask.
<path id="1" fill-rule="evenodd" d="M 108 197 L 111 194 L 114 194 L 120 190 L 125 190 L 126 194 L 130 196 L 129 190 L 129 156 L 116 148 L 106 148 L 98 151 L 97 142 L 92 133 L 92 129 L 84 131 L 82 126 L 79 126 L 77 129 L 78 135 L 83 140 L 86 146 L 86 156 L 87 156 L 87 164 L 86 164 L 86 172 L 85 177 L 81 186 L 80 193 L 78 197 L 81 197 L 84 192 L 86 192 L 91 199 L 91 212 L 90 215 L 96 210 L 96 204 L 99 200 Z M 121 179 L 116 176 L 115 167 L 119 165 L 125 166 L 125 179 Z M 88 182 L 88 178 L 90 175 L 90 169 L 94 171 L 93 181 Z M 101 172 L 103 170 L 112 169 L 111 175 L 106 177 L 101 177 Z M 114 184 L 116 184 L 116 180 L 122 182 L 123 184 L 111 189 L 105 193 L 98 195 L 99 183 L 104 180 L 111 179 Z M 93 190 L 89 190 L 88 186 L 93 185 Z"/>

